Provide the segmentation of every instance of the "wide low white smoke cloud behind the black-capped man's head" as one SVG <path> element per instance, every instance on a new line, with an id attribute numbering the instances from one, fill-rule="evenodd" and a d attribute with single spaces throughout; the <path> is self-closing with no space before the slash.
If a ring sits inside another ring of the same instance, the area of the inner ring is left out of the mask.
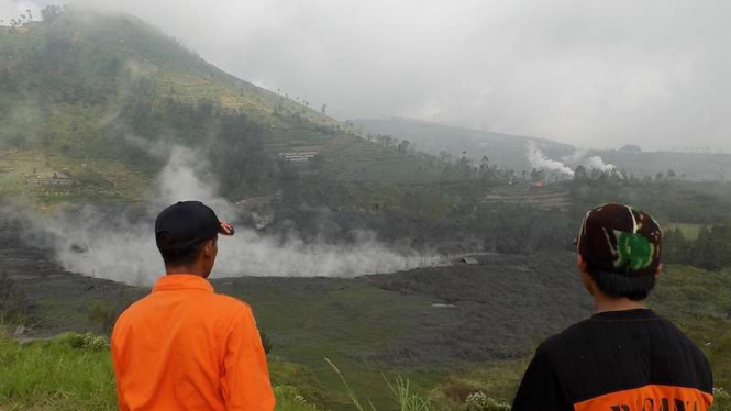
<path id="1" fill-rule="evenodd" d="M 27 223 L 36 232 L 48 234 L 56 258 L 66 270 L 149 286 L 164 274 L 153 231 L 153 220 L 159 211 L 177 201 L 200 200 L 222 220 L 235 216 L 235 207 L 217 195 L 213 179 L 207 176 L 207 164 L 198 158 L 190 149 L 171 149 L 148 215 L 135 218 L 121 212 L 109 220 L 109 212 L 81 207 L 62 209 L 53 215 L 34 215 Z M 233 237 L 219 240 L 213 277 L 354 277 L 441 264 L 444 259 L 434 254 L 397 252 L 367 233 L 361 233 L 352 245 L 332 245 L 307 243 L 297 236 L 283 243 L 237 227 Z"/>

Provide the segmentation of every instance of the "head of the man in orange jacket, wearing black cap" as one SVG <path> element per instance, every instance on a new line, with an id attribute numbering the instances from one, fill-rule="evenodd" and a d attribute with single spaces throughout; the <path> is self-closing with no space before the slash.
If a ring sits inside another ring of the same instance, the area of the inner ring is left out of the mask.
<path id="1" fill-rule="evenodd" d="M 170 206 L 155 221 L 155 240 L 167 274 L 207 278 L 218 255 L 219 234 L 233 235 L 233 227 L 199 201 Z"/>

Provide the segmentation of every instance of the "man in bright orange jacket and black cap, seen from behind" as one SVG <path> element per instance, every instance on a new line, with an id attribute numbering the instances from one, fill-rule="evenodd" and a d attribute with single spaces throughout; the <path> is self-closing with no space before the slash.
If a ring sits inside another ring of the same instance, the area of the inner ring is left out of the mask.
<path id="1" fill-rule="evenodd" d="M 219 234 L 233 235 L 233 227 L 201 202 L 178 202 L 157 216 L 167 275 L 112 333 L 120 410 L 274 410 L 251 308 L 214 293 L 207 280 Z"/>

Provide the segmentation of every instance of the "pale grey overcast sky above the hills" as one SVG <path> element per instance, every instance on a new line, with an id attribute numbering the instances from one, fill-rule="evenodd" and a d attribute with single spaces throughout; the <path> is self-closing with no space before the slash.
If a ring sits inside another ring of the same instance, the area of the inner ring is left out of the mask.
<path id="1" fill-rule="evenodd" d="M 731 151 L 728 0 L 87 2 L 134 13 L 243 79 L 326 102 L 341 120 Z M 29 1 L 0 0 L 0 15 L 16 3 Z"/>

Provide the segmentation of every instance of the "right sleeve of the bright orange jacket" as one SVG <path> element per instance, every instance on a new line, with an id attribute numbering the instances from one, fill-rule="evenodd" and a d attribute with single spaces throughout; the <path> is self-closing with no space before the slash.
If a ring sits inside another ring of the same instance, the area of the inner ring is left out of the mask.
<path id="1" fill-rule="evenodd" d="M 274 410 L 275 399 L 266 354 L 248 307 L 235 316 L 229 329 L 222 386 L 228 410 Z"/>

